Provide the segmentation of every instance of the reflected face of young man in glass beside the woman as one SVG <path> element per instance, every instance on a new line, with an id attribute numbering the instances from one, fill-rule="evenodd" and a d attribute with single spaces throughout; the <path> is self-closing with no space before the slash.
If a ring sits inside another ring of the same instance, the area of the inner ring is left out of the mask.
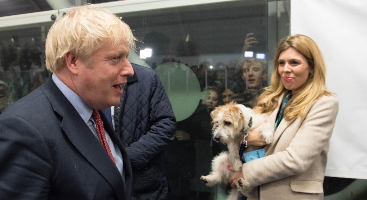
<path id="1" fill-rule="evenodd" d="M 241 77 L 245 81 L 248 88 L 257 88 L 261 85 L 264 70 L 261 63 L 244 63 L 242 66 Z"/>

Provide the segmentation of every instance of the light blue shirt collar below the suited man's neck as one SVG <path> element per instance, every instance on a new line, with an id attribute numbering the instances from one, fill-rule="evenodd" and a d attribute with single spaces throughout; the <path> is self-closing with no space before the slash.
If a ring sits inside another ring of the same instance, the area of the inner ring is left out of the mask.
<path id="1" fill-rule="evenodd" d="M 56 86 L 61 90 L 62 94 L 69 100 L 69 102 L 74 106 L 76 111 L 79 113 L 80 117 L 85 123 L 92 116 L 93 109 L 87 105 L 74 91 L 72 91 L 68 86 L 66 86 L 55 73 L 52 74 L 52 80 Z"/>

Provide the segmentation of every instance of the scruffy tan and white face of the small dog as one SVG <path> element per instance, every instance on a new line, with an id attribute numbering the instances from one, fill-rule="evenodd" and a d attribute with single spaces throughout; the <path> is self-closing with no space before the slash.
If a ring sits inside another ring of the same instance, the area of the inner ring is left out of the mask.
<path id="1" fill-rule="evenodd" d="M 240 134 L 243 128 L 244 116 L 236 103 L 230 102 L 215 108 L 212 118 L 212 135 L 215 142 L 228 143 L 229 140 Z"/>

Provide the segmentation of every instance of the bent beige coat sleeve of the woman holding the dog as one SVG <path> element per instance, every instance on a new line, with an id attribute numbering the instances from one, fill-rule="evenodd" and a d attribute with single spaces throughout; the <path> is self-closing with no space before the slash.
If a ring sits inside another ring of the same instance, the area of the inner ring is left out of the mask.
<path id="1" fill-rule="evenodd" d="M 338 106 L 336 97 L 323 96 L 315 101 L 303 120 L 299 117 L 282 133 L 276 132 L 281 135 L 270 144 L 271 154 L 243 164 L 244 179 L 250 187 L 308 170 L 320 154 L 328 151 Z"/>

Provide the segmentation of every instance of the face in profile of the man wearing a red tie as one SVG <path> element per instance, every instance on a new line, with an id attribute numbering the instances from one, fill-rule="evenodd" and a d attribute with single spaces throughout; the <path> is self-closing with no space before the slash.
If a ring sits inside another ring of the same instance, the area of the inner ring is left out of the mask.
<path id="1" fill-rule="evenodd" d="M 134 70 L 127 60 L 129 48 L 121 42 L 103 45 L 86 62 L 80 59 L 74 81 L 77 94 L 93 109 L 105 109 L 120 103 L 121 85 Z"/>

